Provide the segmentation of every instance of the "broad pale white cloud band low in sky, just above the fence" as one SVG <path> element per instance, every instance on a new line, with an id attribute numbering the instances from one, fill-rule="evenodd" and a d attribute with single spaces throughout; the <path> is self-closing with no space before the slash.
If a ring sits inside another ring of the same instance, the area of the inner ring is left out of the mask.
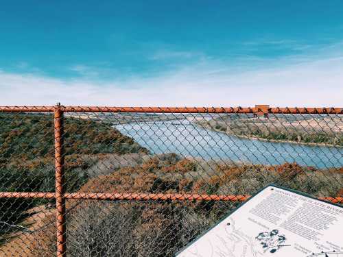
<path id="1" fill-rule="evenodd" d="M 75 79 L 0 71 L 0 105 L 98 106 L 342 106 L 343 53 L 259 60 L 254 69 L 204 58 L 167 73 L 96 82 L 91 66 L 71 69 Z M 176 54 L 177 55 L 177 54 Z M 186 54 L 187 56 L 187 54 Z M 248 62 L 248 60 L 246 60 Z M 29 96 L 29 97 L 27 97 Z"/>

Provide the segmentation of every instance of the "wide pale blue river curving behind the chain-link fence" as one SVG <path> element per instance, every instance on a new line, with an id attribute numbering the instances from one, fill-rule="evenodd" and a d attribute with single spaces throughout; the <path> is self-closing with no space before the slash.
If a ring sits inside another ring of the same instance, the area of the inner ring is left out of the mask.
<path id="1" fill-rule="evenodd" d="M 253 164 L 297 162 L 317 168 L 343 167 L 343 148 L 276 143 L 206 130 L 187 121 L 154 121 L 116 125 L 152 154 L 176 153 L 205 160 Z"/>

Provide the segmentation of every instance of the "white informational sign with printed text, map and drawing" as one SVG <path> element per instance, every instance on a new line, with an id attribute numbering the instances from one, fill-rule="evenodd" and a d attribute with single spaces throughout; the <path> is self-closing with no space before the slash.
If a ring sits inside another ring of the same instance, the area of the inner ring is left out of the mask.
<path id="1" fill-rule="evenodd" d="M 177 257 L 343 257 L 343 208 L 267 186 Z"/>

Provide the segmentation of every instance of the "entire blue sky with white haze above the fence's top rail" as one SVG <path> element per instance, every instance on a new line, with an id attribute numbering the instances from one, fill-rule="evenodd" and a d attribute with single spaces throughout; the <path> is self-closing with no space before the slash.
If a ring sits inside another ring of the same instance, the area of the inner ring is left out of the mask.
<path id="1" fill-rule="evenodd" d="M 343 99 L 340 0 L 8 1 L 0 32 L 3 104 Z"/>

